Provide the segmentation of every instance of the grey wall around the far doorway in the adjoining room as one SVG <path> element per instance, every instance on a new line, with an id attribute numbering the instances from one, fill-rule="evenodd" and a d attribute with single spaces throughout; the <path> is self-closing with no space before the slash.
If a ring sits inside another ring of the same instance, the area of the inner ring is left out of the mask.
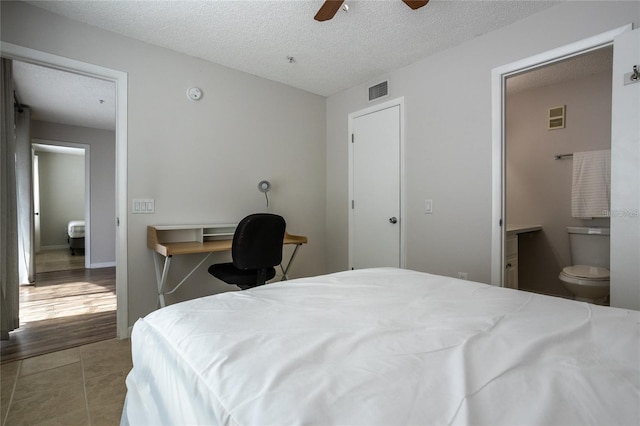
<path id="1" fill-rule="evenodd" d="M 115 132 L 34 121 L 31 123 L 31 137 L 46 140 L 52 144 L 56 144 L 56 142 L 70 142 L 89 145 L 89 168 L 91 172 L 91 264 L 115 264 Z M 84 171 L 84 167 L 82 170 Z M 82 179 L 84 179 L 84 174 L 82 175 Z M 84 217 L 84 205 L 81 217 Z"/>

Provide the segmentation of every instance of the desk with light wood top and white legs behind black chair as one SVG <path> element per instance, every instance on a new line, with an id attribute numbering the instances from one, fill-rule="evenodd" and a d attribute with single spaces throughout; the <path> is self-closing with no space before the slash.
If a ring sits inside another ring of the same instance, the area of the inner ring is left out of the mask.
<path id="1" fill-rule="evenodd" d="M 212 253 L 231 250 L 236 225 L 157 225 L 147 227 L 147 247 L 153 250 L 153 263 L 158 283 L 158 304 L 161 308 L 166 306 L 165 295 L 176 291 Z M 286 266 L 280 265 L 282 280 L 286 280 L 298 248 L 307 243 L 307 237 L 285 232 L 283 243 L 295 245 Z M 204 258 L 173 289 L 166 291 L 169 267 L 173 256 L 198 253 L 205 254 Z"/>

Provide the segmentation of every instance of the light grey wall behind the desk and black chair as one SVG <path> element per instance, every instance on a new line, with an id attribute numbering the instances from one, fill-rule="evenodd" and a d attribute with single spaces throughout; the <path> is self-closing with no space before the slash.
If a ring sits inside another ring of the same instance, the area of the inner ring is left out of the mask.
<path id="1" fill-rule="evenodd" d="M 304 234 L 291 276 L 325 271 L 325 99 L 80 24 L 22 2 L 2 2 L 2 40 L 128 74 L 128 194 L 155 199 L 128 215 L 129 322 L 156 307 L 146 227 L 238 221 L 265 209 Z M 198 86 L 199 102 L 186 97 Z M 289 248 L 287 248 L 289 250 Z M 213 256 L 211 263 L 224 260 Z M 176 276 L 199 256 L 174 261 Z M 175 279 L 175 277 L 171 277 Z M 202 268 L 175 300 L 231 289 Z"/>

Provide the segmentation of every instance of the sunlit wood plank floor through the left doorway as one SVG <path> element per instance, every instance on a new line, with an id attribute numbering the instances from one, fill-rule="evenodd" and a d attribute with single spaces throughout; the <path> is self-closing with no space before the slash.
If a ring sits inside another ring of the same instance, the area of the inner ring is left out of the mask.
<path id="1" fill-rule="evenodd" d="M 116 269 L 36 274 L 20 287 L 20 328 L 2 341 L 2 363 L 116 336 Z"/>

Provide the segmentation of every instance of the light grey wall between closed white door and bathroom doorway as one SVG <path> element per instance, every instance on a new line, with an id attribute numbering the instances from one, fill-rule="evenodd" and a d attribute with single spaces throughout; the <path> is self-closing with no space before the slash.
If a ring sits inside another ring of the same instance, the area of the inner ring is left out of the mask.
<path id="1" fill-rule="evenodd" d="M 408 268 L 491 280 L 491 70 L 628 23 L 637 2 L 566 2 L 389 74 L 406 106 Z M 327 100 L 329 270 L 347 267 L 347 117 L 366 89 Z"/>

